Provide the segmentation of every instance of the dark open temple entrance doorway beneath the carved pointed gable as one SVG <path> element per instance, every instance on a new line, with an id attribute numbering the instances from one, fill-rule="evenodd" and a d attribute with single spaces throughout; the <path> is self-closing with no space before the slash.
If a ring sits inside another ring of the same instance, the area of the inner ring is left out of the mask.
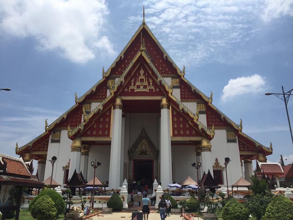
<path id="1" fill-rule="evenodd" d="M 151 189 L 154 180 L 154 160 L 133 160 L 133 163 L 134 181 L 140 182 L 140 189 L 146 184 Z"/>

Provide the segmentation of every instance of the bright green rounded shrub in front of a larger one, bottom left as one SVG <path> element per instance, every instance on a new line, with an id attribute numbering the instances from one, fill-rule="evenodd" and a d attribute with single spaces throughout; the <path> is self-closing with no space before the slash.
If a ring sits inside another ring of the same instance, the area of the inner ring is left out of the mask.
<path id="1" fill-rule="evenodd" d="M 40 197 L 31 207 L 31 215 L 37 220 L 52 220 L 58 218 L 57 209 L 48 195 Z"/>

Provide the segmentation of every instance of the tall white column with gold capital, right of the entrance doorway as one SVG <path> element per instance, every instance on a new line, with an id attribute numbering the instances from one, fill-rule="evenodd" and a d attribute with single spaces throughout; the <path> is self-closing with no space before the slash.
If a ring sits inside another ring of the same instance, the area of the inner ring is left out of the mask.
<path id="1" fill-rule="evenodd" d="M 171 134 L 170 134 L 170 103 L 167 98 L 161 99 L 161 186 L 166 189 L 172 183 Z"/>

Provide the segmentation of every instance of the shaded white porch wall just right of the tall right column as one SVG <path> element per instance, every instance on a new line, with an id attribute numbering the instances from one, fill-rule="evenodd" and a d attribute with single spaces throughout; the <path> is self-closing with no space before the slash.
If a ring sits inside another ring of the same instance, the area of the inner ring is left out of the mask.
<path id="1" fill-rule="evenodd" d="M 173 181 L 182 183 L 188 176 L 197 181 L 196 169 L 191 166 L 196 162 L 195 146 L 172 145 Z M 199 175 L 199 178 L 201 176 Z"/>

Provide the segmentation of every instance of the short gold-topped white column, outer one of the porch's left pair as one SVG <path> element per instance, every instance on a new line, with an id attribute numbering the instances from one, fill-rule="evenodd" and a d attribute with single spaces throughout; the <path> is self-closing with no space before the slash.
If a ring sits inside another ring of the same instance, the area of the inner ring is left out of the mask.
<path id="1" fill-rule="evenodd" d="M 81 158 L 81 139 L 74 139 L 71 144 L 71 152 L 70 152 L 70 166 L 68 172 L 68 178 L 71 179 L 74 170 L 77 173 L 80 173 L 80 158 Z"/>

